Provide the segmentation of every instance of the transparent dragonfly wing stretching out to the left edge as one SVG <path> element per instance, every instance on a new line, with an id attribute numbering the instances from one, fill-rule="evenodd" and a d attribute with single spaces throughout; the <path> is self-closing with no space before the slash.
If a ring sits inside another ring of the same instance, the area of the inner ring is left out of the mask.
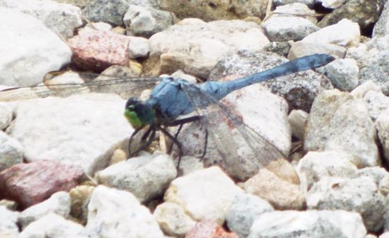
<path id="1" fill-rule="evenodd" d="M 115 93 L 128 99 L 129 96 L 139 96 L 142 90 L 152 88 L 160 82 L 160 78 L 117 78 L 114 76 L 104 76 L 104 80 L 83 82 L 79 77 L 78 80 L 74 80 L 75 77 L 69 77 L 67 82 L 70 83 L 58 83 L 56 78 L 46 78 L 44 85 L 1 90 L 0 101 L 19 101 L 47 96 L 65 97 L 88 92 Z"/>

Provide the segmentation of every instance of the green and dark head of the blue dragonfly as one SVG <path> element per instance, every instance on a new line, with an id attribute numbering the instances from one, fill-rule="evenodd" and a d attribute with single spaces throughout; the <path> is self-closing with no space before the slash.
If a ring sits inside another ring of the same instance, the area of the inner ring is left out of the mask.
<path id="1" fill-rule="evenodd" d="M 147 101 L 131 98 L 126 103 L 124 116 L 129 120 L 133 128 L 153 124 L 155 119 L 154 108 Z"/>

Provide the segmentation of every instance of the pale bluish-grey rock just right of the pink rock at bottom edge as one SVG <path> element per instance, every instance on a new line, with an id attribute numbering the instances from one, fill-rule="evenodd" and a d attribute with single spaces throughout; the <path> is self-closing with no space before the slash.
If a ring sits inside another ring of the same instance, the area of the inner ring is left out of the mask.
<path id="1" fill-rule="evenodd" d="M 247 237 L 254 221 L 261 214 L 272 211 L 272 205 L 258 196 L 237 194 L 227 212 L 226 224 L 239 237 Z"/>

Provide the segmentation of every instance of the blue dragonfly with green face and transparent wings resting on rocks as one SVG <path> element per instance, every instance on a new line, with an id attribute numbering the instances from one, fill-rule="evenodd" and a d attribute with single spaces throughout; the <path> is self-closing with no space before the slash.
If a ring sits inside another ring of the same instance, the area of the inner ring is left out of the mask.
<path id="1" fill-rule="evenodd" d="M 240 137 L 240 144 L 251 151 L 254 159 L 251 166 L 254 171 L 249 171 L 247 178 L 254 176 L 259 169 L 265 168 L 272 171 L 279 178 L 299 185 L 299 177 L 290 162 L 281 151 L 263 136 L 247 126 L 242 117 L 234 113 L 229 106 L 220 100 L 235 90 L 242 89 L 255 83 L 277 78 L 298 71 L 315 69 L 333 61 L 335 58 L 327 54 L 314 54 L 304 56 L 296 60 L 285 62 L 282 65 L 265 71 L 238 78 L 231 81 L 206 81 L 205 83 L 189 83 L 187 80 L 164 78 L 110 78 L 106 80 L 86 80 L 84 83 L 53 83 L 44 80 L 44 85 L 31 87 L 14 87 L 0 91 L 0 101 L 17 101 L 24 99 L 41 98 L 47 96 L 69 96 L 88 89 L 92 92 L 115 92 L 117 94 L 131 94 L 124 108 L 124 117 L 135 129 L 130 137 L 129 148 L 135 135 L 143 131 L 141 137 L 142 146 L 135 151 L 135 155 L 151 144 L 156 137 L 156 131 L 166 135 L 176 145 L 179 151 L 179 162 L 182 156 L 182 146 L 177 140 L 184 124 L 199 122 L 206 128 L 205 146 L 201 158 L 206 154 L 208 137 L 216 145 L 217 152 L 223 160 L 228 160 L 228 167 L 242 167 L 245 164 L 238 159 L 238 145 L 231 144 L 231 135 L 220 135 L 227 126 Z M 54 78 L 55 79 L 55 78 Z M 147 100 L 138 99 L 139 92 L 145 88 L 154 87 Z M 138 94 L 138 95 L 137 95 Z M 192 112 L 195 116 L 185 117 Z M 222 123 L 224 122 L 224 123 Z M 167 128 L 178 126 L 176 133 L 172 135 Z M 221 128 L 224 126 L 224 128 Z M 169 148 L 171 151 L 172 147 Z M 169 152 L 168 151 L 168 152 Z M 178 162 L 178 167 L 179 167 Z M 229 169 L 229 168 L 226 168 Z M 239 169 L 238 169 L 239 170 Z"/>

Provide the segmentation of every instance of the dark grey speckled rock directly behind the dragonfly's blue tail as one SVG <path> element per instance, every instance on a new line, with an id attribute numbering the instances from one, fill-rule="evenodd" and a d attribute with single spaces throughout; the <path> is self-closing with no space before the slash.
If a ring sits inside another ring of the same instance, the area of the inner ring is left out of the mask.
<path id="1" fill-rule="evenodd" d="M 233 75 L 249 76 L 284 62 L 287 60 L 275 54 L 240 51 L 238 54 L 233 54 L 218 62 L 209 78 L 215 80 Z M 261 85 L 265 85 L 273 93 L 283 96 L 288 101 L 290 110 L 300 109 L 306 112 L 311 110 L 313 99 L 318 94 L 332 88 L 328 78 L 311 70 L 281 76 L 261 83 Z"/>

